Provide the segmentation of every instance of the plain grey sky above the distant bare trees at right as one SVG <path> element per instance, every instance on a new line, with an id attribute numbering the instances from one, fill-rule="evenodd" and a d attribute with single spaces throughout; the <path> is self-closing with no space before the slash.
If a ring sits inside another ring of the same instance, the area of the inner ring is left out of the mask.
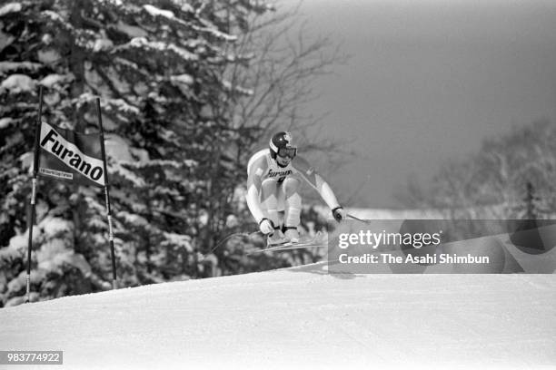
<path id="1" fill-rule="evenodd" d="M 365 182 L 361 204 L 398 206 L 412 173 L 426 180 L 512 125 L 556 122 L 554 0 L 305 0 L 302 12 L 352 55 L 309 110 L 358 147 L 328 180 L 341 194 Z"/>

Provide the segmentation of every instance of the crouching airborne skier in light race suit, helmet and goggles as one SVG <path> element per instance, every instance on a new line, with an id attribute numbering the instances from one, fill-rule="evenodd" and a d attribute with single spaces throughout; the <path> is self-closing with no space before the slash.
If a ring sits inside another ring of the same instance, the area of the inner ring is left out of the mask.
<path id="1" fill-rule="evenodd" d="M 247 164 L 247 206 L 259 229 L 267 235 L 269 246 L 299 242 L 302 180 L 317 190 L 338 222 L 346 218 L 328 183 L 297 156 L 292 134 L 281 131 L 273 135 L 269 148 L 257 151 Z"/>

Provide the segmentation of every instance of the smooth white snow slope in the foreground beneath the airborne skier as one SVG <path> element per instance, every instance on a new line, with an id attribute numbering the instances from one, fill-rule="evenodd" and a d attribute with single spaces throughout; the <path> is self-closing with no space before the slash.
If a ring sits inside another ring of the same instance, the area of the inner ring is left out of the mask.
<path id="1" fill-rule="evenodd" d="M 554 368 L 554 303 L 554 275 L 315 264 L 0 309 L 0 349 L 63 350 L 68 369 Z"/>

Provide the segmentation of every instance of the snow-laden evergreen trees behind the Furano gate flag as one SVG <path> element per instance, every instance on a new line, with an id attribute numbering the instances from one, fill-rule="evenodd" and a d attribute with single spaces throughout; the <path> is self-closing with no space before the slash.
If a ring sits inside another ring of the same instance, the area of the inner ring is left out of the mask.
<path id="1" fill-rule="evenodd" d="M 244 170 L 229 150 L 249 137 L 214 114 L 223 97 L 249 93 L 223 79 L 227 65 L 246 59 L 226 45 L 250 13 L 266 10 L 246 0 L 0 7 L 3 304 L 23 294 L 39 85 L 45 122 L 75 131 L 98 130 L 93 102 L 101 97 L 122 284 L 207 276 L 198 253 L 226 231 Z M 102 192 L 41 180 L 39 199 L 32 290 L 44 299 L 109 287 Z"/>

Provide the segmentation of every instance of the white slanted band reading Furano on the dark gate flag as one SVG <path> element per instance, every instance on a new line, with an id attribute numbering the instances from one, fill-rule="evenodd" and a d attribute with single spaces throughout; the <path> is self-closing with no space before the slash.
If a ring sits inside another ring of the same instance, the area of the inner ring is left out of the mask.
<path id="1" fill-rule="evenodd" d="M 103 161 L 84 154 L 77 146 L 55 131 L 54 127 L 43 122 L 41 125 L 41 148 L 53 154 L 58 160 L 63 161 L 66 166 L 89 180 L 99 185 L 104 185 Z"/>

